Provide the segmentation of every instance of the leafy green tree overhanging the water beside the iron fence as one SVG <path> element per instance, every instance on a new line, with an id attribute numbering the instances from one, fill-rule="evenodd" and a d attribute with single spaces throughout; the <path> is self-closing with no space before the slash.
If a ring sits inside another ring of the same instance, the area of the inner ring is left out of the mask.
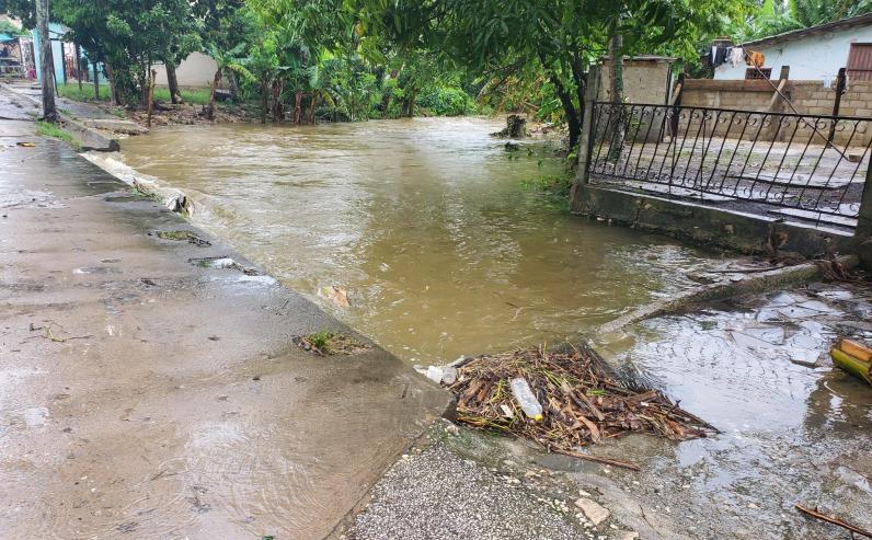
<path id="1" fill-rule="evenodd" d="M 364 31 L 403 49 L 424 48 L 487 79 L 540 70 L 578 140 L 589 66 L 620 34 L 623 53 L 669 43 L 695 55 L 699 35 L 741 0 L 357 0 Z"/>

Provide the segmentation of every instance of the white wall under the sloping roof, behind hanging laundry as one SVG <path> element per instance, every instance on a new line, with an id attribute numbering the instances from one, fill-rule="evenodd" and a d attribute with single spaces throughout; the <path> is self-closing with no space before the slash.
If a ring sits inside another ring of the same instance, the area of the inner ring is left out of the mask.
<path id="1" fill-rule="evenodd" d="M 851 43 L 872 43 L 872 25 L 798 37 L 750 49 L 766 56 L 764 67 L 772 68 L 773 79 L 778 78 L 782 66 L 790 66 L 790 78 L 793 80 L 823 80 L 824 77 L 835 78 L 839 68 L 846 67 Z M 726 62 L 714 70 L 714 78 L 744 79 L 745 69 L 745 64 L 734 68 Z"/>

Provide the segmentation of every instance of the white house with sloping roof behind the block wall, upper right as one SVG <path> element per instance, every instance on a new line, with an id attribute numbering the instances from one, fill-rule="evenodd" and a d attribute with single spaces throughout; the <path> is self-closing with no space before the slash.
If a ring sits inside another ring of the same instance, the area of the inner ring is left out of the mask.
<path id="1" fill-rule="evenodd" d="M 726 61 L 714 69 L 716 80 L 777 79 L 790 66 L 793 80 L 831 80 L 839 68 L 848 69 L 848 80 L 872 80 L 872 13 L 831 23 L 795 30 L 738 45 L 761 53 L 762 66 Z"/>

